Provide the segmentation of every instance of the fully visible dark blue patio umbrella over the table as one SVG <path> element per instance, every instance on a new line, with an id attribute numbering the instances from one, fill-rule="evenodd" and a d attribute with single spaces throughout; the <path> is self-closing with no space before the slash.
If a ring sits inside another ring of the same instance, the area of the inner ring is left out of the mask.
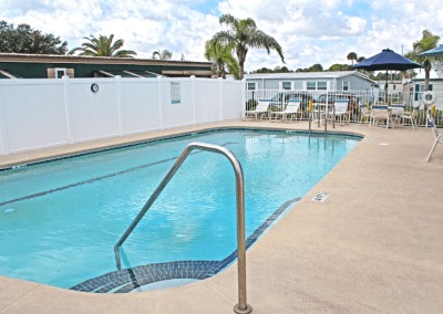
<path id="1" fill-rule="evenodd" d="M 394 71 L 406 71 L 410 69 L 424 67 L 423 65 L 409 60 L 408 57 L 393 52 L 390 49 L 383 49 L 382 52 L 371 56 L 354 66 L 352 69 L 362 69 L 367 71 L 383 71 L 387 70 L 387 88 L 385 100 L 388 103 L 388 70 Z"/>

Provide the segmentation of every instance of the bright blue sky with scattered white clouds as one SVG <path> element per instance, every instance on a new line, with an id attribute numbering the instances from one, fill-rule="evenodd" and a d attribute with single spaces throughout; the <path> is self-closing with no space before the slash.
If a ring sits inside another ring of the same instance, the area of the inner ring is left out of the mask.
<path id="1" fill-rule="evenodd" d="M 218 18 L 229 13 L 251 18 L 274 36 L 285 54 L 249 50 L 245 69 L 287 66 L 290 70 L 320 63 L 350 64 L 347 55 L 370 57 L 382 49 L 406 53 L 423 30 L 442 36 L 442 0 L 0 0 L 0 20 L 27 23 L 68 41 L 69 50 L 84 36 L 114 34 L 123 49 L 137 57 L 171 50 L 173 60 L 206 61 L 205 41 L 228 30 Z"/>

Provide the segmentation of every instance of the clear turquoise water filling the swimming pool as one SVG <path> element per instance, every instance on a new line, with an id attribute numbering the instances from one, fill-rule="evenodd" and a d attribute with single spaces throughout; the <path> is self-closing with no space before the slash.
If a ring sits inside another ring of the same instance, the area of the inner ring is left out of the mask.
<path id="1" fill-rule="evenodd" d="M 240 160 L 249 237 L 359 140 L 219 130 L 0 171 L 0 274 L 69 289 L 115 271 L 114 244 L 190 142 L 224 145 Z M 189 156 L 122 248 L 123 268 L 233 253 L 235 178 L 226 157 Z"/>

